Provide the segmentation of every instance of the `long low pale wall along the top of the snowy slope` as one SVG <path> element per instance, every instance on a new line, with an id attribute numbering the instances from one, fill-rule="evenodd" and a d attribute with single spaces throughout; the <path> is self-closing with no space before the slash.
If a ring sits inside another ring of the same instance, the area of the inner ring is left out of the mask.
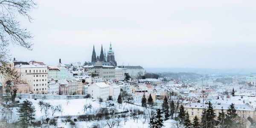
<path id="1" fill-rule="evenodd" d="M 27 99 L 84 99 L 84 95 L 49 95 L 49 94 L 24 94 L 17 93 L 16 97 Z"/>

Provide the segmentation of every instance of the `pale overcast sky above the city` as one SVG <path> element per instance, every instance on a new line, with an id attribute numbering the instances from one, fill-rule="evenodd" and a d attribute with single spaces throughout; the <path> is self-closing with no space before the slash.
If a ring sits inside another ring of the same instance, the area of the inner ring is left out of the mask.
<path id="1" fill-rule="evenodd" d="M 18 60 L 91 61 L 101 45 L 118 65 L 256 68 L 256 0 L 38 0 L 33 50 Z"/>

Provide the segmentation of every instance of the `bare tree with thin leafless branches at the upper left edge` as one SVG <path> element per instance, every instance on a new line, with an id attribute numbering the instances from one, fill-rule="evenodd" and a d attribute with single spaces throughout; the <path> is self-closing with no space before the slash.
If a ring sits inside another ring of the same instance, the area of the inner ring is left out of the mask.
<path id="1" fill-rule="evenodd" d="M 32 35 L 26 28 L 21 28 L 17 17 L 24 16 L 31 22 L 32 17 L 28 12 L 35 7 L 36 3 L 33 0 L 0 0 L 0 75 L 6 80 L 17 80 L 20 77 L 8 64 L 9 44 L 32 50 Z"/>

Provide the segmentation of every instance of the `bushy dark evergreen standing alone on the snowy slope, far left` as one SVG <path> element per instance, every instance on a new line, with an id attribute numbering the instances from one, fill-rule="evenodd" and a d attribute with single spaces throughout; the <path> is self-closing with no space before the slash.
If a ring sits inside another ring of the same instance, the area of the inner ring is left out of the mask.
<path id="1" fill-rule="evenodd" d="M 28 101 L 27 99 L 23 101 L 20 108 L 17 109 L 17 112 L 17 115 L 20 117 L 19 122 L 25 127 L 35 119 L 35 107 L 32 106 L 32 102 Z"/>

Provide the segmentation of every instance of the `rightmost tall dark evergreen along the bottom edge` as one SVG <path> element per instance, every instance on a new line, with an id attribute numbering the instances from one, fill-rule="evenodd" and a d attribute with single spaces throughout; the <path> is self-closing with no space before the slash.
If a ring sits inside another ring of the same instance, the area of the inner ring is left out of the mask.
<path id="1" fill-rule="evenodd" d="M 236 113 L 235 105 L 232 103 L 227 110 L 226 120 L 224 122 L 225 126 L 233 128 L 238 125 L 239 123 L 237 123 L 235 120 L 237 116 L 238 114 Z"/>

